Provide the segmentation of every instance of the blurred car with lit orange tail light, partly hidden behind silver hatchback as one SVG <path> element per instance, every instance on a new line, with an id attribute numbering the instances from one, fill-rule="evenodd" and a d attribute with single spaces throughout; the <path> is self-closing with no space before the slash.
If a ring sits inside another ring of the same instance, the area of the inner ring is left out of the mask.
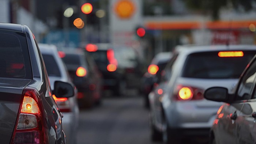
<path id="1" fill-rule="evenodd" d="M 159 83 L 161 73 L 171 58 L 172 52 L 159 52 L 152 59 L 148 71 L 141 78 L 140 91 L 143 94 L 146 108 L 149 107 L 148 94 L 152 91 L 154 84 Z"/>

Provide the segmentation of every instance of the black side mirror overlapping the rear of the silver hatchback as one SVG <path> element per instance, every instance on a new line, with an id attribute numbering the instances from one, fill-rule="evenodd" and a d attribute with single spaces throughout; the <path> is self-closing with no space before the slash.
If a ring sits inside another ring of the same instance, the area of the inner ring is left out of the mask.
<path id="1" fill-rule="evenodd" d="M 228 90 L 225 87 L 211 87 L 204 92 L 204 98 L 211 101 L 228 102 Z"/>

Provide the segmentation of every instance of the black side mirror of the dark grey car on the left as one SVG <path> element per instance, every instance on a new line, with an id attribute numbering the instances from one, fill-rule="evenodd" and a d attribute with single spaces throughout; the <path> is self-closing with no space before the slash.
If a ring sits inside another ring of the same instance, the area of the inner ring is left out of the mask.
<path id="1" fill-rule="evenodd" d="M 55 81 L 53 94 L 57 98 L 72 97 L 75 94 L 74 85 L 68 82 Z"/>

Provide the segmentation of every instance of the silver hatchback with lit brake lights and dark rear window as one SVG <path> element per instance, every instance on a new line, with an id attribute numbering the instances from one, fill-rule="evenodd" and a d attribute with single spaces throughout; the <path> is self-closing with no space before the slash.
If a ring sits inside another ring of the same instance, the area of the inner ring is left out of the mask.
<path id="1" fill-rule="evenodd" d="M 151 139 L 178 143 L 207 137 L 221 102 L 206 100 L 212 86 L 233 89 L 256 46 L 178 46 L 167 63 L 161 82 L 148 95 Z"/>

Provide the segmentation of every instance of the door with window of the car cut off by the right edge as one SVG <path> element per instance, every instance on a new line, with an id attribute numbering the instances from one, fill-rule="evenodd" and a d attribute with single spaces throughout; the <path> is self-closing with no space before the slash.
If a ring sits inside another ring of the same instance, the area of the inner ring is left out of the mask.
<path id="1" fill-rule="evenodd" d="M 242 96 L 241 114 L 237 118 L 237 142 L 242 144 L 256 143 L 256 61 L 254 61 L 242 78 L 238 97 Z M 242 88 L 246 87 L 246 88 Z M 245 90 L 246 89 L 246 90 Z"/>

